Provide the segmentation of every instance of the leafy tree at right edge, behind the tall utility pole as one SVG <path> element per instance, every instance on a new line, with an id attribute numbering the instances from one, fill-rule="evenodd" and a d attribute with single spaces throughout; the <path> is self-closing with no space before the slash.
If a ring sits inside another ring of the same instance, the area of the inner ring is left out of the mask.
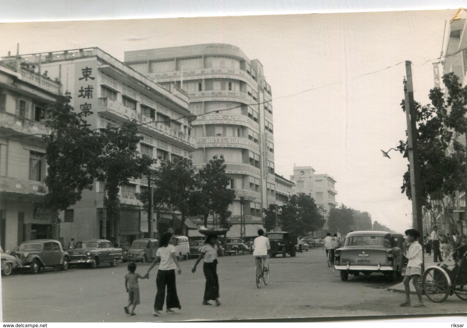
<path id="1" fill-rule="evenodd" d="M 421 202 L 428 210 L 436 201 L 446 209 L 446 196 L 452 197 L 456 190 L 466 190 L 466 150 L 457 139 L 467 129 L 467 87 L 462 87 L 453 73 L 445 74 L 443 83 L 447 95 L 436 87 L 430 90 L 431 104 L 421 106 L 415 102 Z M 404 101 L 401 105 L 405 111 Z M 408 157 L 407 141 L 401 140 L 397 148 Z M 403 175 L 401 189 L 411 199 L 410 168 Z"/>

